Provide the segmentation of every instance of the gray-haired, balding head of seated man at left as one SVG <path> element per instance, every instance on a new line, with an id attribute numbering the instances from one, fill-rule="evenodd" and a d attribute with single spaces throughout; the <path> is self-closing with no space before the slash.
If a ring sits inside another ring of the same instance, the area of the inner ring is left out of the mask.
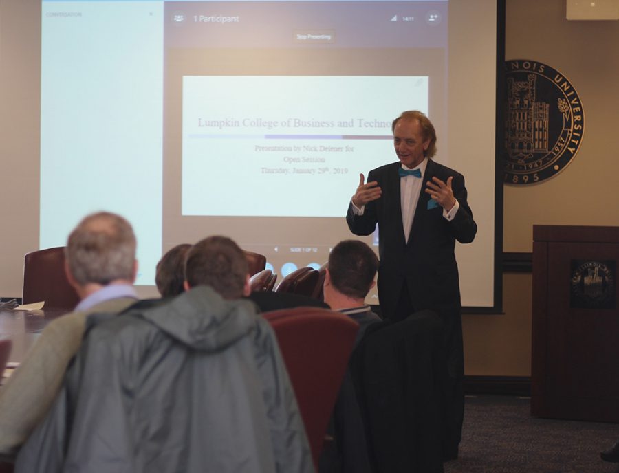
<path id="1" fill-rule="evenodd" d="M 65 270 L 78 295 L 113 283 L 135 281 L 135 234 L 120 215 L 98 212 L 85 217 L 69 235 Z"/>

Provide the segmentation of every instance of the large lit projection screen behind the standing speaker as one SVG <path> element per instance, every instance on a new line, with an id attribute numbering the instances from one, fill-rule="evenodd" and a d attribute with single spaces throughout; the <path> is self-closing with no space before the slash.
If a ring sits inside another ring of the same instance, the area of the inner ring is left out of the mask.
<path id="1" fill-rule="evenodd" d="M 318 267 L 358 238 L 359 175 L 397 159 L 391 121 L 417 109 L 479 227 L 457 245 L 463 305 L 495 306 L 495 0 L 43 0 L 40 18 L 39 248 L 110 210 L 145 296 L 163 252 L 210 234 L 280 280 Z"/>

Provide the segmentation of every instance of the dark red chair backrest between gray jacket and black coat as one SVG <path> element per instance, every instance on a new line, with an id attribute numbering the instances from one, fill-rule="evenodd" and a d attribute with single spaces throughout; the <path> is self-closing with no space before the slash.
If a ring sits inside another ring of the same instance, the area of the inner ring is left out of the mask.
<path id="1" fill-rule="evenodd" d="M 315 465 L 359 326 L 319 307 L 265 312 L 301 410 Z"/>

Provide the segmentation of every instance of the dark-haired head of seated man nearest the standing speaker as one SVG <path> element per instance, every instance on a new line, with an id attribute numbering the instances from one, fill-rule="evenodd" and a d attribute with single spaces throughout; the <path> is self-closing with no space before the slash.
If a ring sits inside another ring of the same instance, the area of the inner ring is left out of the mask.
<path id="1" fill-rule="evenodd" d="M 378 271 L 378 257 L 368 245 L 358 240 L 340 241 L 329 253 L 325 274 L 325 302 L 332 309 L 340 305 L 335 298 L 356 301 L 362 305 L 369 290 L 374 287 Z"/>

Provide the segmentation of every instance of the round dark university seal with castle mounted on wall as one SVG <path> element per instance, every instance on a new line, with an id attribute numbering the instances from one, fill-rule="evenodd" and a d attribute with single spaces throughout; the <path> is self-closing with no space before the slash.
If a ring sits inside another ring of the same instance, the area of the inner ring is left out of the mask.
<path id="1" fill-rule="evenodd" d="M 536 61 L 506 61 L 506 183 L 556 175 L 576 156 L 584 130 L 583 105 L 563 74 Z"/>

